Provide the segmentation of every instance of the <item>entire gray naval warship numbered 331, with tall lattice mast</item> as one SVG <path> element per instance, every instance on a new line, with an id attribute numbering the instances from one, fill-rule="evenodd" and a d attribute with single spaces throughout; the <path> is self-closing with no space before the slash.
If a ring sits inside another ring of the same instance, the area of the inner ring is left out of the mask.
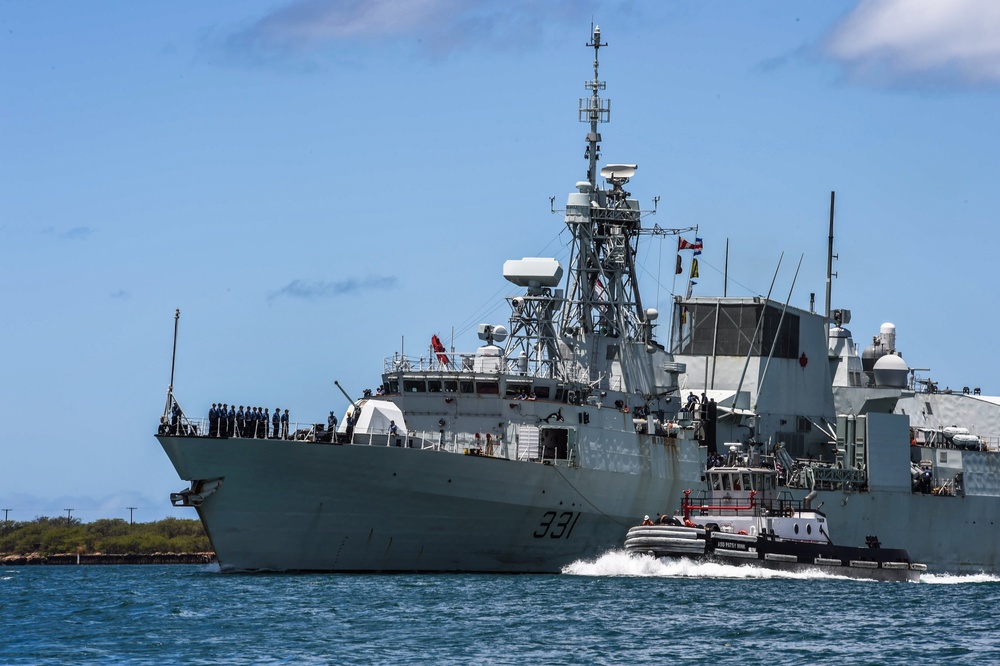
<path id="1" fill-rule="evenodd" d="M 783 501 L 820 512 L 838 543 L 1000 571 L 1000 398 L 918 378 L 891 325 L 859 354 L 830 270 L 824 312 L 770 294 L 688 293 L 666 322 L 643 306 L 641 239 L 691 229 L 644 227 L 655 200 L 624 189 L 636 165 L 598 166 L 603 46 L 595 29 L 568 266 L 504 263 L 523 290 L 507 326 L 481 325 L 468 353 L 433 337 L 385 359 L 383 390 L 348 397 L 335 430 L 275 441 L 189 418 L 171 377 L 157 439 L 189 482 L 173 504 L 195 507 L 224 570 L 558 572 L 705 493 L 709 461 L 753 442 Z"/>

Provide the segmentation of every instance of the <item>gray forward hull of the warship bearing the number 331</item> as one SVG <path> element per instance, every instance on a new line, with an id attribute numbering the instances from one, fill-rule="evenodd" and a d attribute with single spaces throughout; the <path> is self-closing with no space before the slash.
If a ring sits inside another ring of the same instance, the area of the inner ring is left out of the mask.
<path id="1" fill-rule="evenodd" d="M 182 478 L 221 479 L 197 509 L 224 570 L 559 572 L 620 545 L 637 516 L 698 482 L 687 441 L 665 445 L 654 475 L 386 446 L 157 439 Z"/>

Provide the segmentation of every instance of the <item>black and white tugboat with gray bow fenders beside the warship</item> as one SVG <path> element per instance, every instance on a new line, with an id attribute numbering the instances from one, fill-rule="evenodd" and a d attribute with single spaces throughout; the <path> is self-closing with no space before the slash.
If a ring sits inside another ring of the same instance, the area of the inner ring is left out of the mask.
<path id="1" fill-rule="evenodd" d="M 709 462 L 708 490 L 699 497 L 685 491 L 673 516 L 656 522 L 646 516 L 629 529 L 625 550 L 885 581 L 916 581 L 927 571 L 905 550 L 883 548 L 876 536 L 868 536 L 865 546 L 834 544 L 826 517 L 810 506 L 815 493 L 803 500 L 779 494 L 780 466 L 760 448 L 730 444 L 727 457 Z"/>

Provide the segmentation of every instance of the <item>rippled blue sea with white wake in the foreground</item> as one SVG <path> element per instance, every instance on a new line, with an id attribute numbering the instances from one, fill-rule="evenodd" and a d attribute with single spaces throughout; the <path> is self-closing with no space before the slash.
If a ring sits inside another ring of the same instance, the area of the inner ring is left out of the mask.
<path id="1" fill-rule="evenodd" d="M 612 552 L 561 575 L 0 569 L 2 664 L 996 664 L 1000 578 Z"/>

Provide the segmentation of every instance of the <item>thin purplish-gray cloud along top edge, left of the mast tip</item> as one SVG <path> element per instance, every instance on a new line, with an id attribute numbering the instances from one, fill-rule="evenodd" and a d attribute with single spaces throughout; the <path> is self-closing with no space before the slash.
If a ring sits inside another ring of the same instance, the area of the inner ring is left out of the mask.
<path id="1" fill-rule="evenodd" d="M 336 47 L 405 41 L 433 57 L 472 47 L 540 43 L 543 26 L 579 22 L 593 0 L 292 0 L 227 40 L 254 61 Z"/>

